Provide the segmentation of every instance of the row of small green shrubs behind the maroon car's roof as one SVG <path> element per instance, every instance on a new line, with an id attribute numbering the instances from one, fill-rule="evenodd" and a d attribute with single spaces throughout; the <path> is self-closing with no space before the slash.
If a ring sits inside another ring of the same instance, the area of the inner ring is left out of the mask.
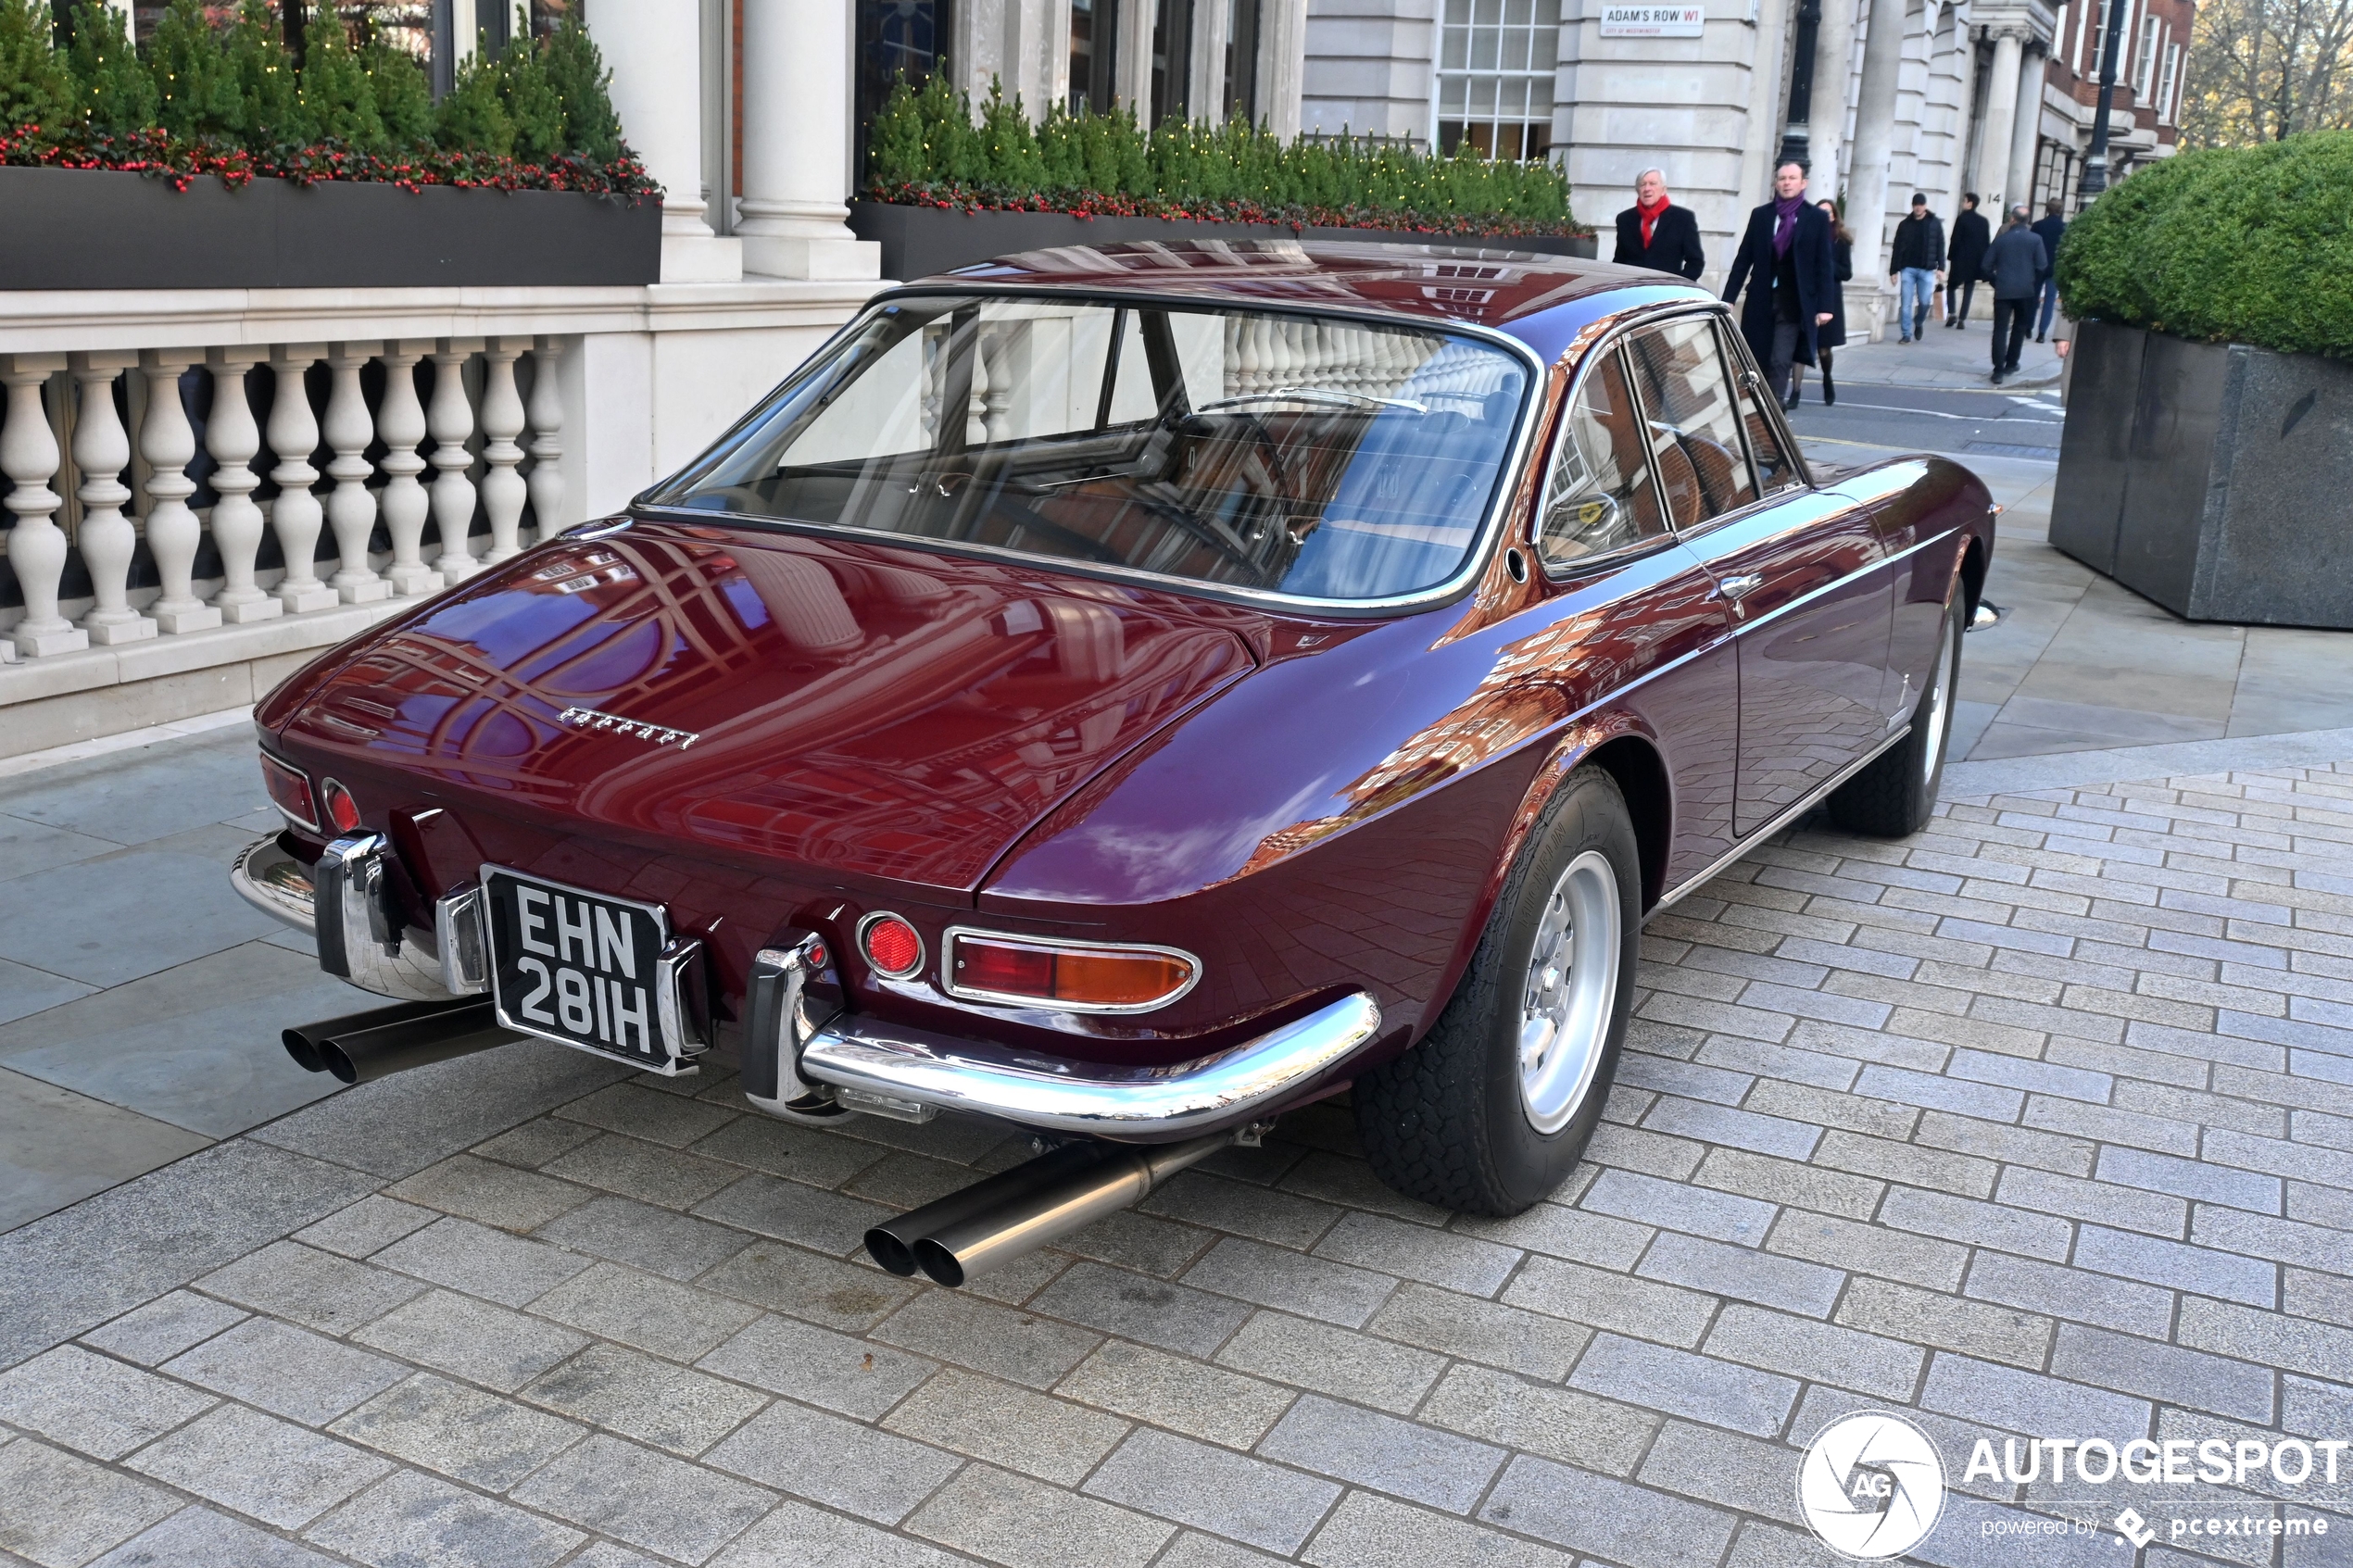
<path id="1" fill-rule="evenodd" d="M 868 141 L 868 195 L 885 202 L 1078 214 L 1212 216 L 1424 230 L 1581 233 L 1569 186 L 1546 162 L 1454 158 L 1362 139 L 1285 146 L 1249 125 L 1162 120 L 1132 110 L 1031 125 L 1021 99 L 991 87 L 974 113 L 934 73 L 892 87 Z"/>

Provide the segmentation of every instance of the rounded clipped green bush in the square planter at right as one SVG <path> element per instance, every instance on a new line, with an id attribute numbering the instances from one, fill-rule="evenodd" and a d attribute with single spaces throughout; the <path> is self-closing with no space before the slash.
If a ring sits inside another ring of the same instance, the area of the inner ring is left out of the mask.
<path id="1" fill-rule="evenodd" d="M 2167 158 L 2059 242 L 2068 315 L 2353 357 L 2353 132 Z"/>

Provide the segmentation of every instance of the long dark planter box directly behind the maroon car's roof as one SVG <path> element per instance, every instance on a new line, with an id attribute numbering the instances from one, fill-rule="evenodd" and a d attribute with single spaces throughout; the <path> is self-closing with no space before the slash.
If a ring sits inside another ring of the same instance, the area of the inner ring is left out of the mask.
<path id="1" fill-rule="evenodd" d="M 1360 240 L 1593 256 L 1593 235 L 1412 235 L 1395 228 L 1292 228 L 1289 223 L 1202 223 L 1193 219 L 1073 219 L 1061 212 L 946 212 L 849 202 L 849 233 L 882 247 L 885 277 L 929 277 L 991 256 L 1056 244 L 1120 240 Z"/>

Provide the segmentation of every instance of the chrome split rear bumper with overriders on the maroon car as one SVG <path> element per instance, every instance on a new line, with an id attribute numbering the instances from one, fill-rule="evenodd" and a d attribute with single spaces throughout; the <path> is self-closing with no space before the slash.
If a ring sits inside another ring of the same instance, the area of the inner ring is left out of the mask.
<path id="1" fill-rule="evenodd" d="M 231 886 L 256 910 L 318 938 L 332 976 L 405 1001 L 459 1004 L 487 990 L 480 889 L 435 905 L 433 931 L 405 926 L 391 898 L 391 842 L 355 832 L 315 867 L 275 837 L 249 844 Z M 708 1048 L 699 947 L 666 954 L 656 990 L 661 1046 L 680 1072 Z M 762 1112 L 828 1121 L 868 1112 L 925 1121 L 941 1110 L 1002 1117 L 1054 1135 L 1165 1143 L 1242 1128 L 1325 1079 L 1381 1030 L 1365 992 L 1327 1001 L 1217 1056 L 1174 1067 L 1104 1067 L 1012 1051 L 849 1013 L 816 933 L 762 947 L 753 964 L 744 1093 Z M 574 1044 L 574 1041 L 560 1041 Z"/>

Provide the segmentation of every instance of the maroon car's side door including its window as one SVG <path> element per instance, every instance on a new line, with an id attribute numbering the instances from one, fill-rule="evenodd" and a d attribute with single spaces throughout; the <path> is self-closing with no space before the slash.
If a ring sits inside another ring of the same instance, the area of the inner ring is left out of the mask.
<path id="1" fill-rule="evenodd" d="M 1887 733 L 1880 684 L 1894 599 L 1868 508 L 1800 480 L 1737 353 L 1713 313 L 1626 341 L 1675 531 L 1732 604 L 1741 689 L 1732 820 L 1746 837 Z"/>

